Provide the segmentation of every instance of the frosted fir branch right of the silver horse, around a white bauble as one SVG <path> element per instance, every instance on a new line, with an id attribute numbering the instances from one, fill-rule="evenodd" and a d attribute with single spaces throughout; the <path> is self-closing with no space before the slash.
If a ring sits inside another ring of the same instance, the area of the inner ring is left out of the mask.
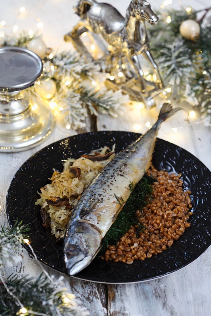
<path id="1" fill-rule="evenodd" d="M 181 100 L 198 106 L 202 119 L 211 124 L 211 18 L 199 21 L 200 36 L 191 41 L 181 36 L 179 27 L 187 19 L 196 20 L 194 9 L 191 13 L 170 9 L 158 15 L 158 25 L 149 27 L 148 32 L 165 83 L 176 90 Z M 168 15 L 170 23 L 166 22 Z"/>

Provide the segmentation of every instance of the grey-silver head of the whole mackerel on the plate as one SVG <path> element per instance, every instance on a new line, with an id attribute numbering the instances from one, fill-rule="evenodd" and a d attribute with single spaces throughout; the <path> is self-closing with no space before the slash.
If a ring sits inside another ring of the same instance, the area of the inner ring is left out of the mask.
<path id="1" fill-rule="evenodd" d="M 83 221 L 71 223 L 64 239 L 66 272 L 74 275 L 87 267 L 100 249 L 101 240 L 94 225 Z"/>

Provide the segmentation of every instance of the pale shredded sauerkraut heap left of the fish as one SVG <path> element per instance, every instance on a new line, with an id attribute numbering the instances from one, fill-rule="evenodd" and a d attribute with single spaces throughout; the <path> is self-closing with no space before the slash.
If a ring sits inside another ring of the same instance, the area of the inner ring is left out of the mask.
<path id="1" fill-rule="evenodd" d="M 115 145 L 112 151 L 115 150 Z M 104 155 L 110 151 L 108 147 L 98 149 L 101 155 Z M 90 154 L 93 154 L 96 150 L 93 150 Z M 113 158 L 115 154 L 111 155 L 107 160 L 103 161 L 91 161 L 90 159 L 80 157 L 78 159 L 68 159 L 64 163 L 62 172 L 53 172 L 50 184 L 40 188 L 41 192 L 38 192 L 40 198 L 35 202 L 36 205 L 40 205 L 42 209 L 45 209 L 50 216 L 51 233 L 55 235 L 56 239 L 63 238 L 65 234 L 66 226 L 69 222 L 72 210 L 66 206 L 53 206 L 48 205 L 46 200 L 51 200 L 55 197 L 63 198 L 68 197 L 69 204 L 75 206 L 84 192 L 90 181 L 96 177 L 96 175 L 106 166 Z M 70 173 L 71 167 L 78 167 L 81 170 L 81 174 L 78 177 L 72 178 Z"/>

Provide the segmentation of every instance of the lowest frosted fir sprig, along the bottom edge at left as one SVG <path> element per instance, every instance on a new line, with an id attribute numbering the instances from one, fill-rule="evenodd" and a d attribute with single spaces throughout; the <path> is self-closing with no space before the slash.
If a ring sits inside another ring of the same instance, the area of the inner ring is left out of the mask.
<path id="1" fill-rule="evenodd" d="M 22 308 L 0 285 L 0 315 L 46 315 L 46 316 L 87 316 L 87 310 L 80 306 L 80 302 L 73 294 L 65 292 L 62 285 L 63 276 L 57 280 L 57 287 L 47 276 L 42 274 L 37 278 L 23 276 L 9 276 L 5 283 L 10 291 L 23 303 L 22 308 L 27 313 L 22 313 Z"/>

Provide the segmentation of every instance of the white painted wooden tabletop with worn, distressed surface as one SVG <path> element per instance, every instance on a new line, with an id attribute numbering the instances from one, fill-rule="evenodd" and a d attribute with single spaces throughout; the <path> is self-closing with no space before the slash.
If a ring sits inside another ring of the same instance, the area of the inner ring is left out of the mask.
<path id="1" fill-rule="evenodd" d="M 122 14 L 129 4 L 129 0 L 112 0 Z M 163 1 L 157 0 L 153 8 L 159 8 Z M 181 1 L 173 0 L 172 7 L 177 8 Z M 208 6 L 209 0 L 203 1 Z M 0 21 L 6 21 L 8 31 L 14 25 L 19 29 L 36 30 L 37 18 L 44 24 L 43 39 L 48 47 L 55 50 L 72 49 L 71 44 L 63 42 L 63 35 L 71 30 L 77 23 L 78 17 L 73 15 L 73 0 L 15 0 L 5 1 L 0 11 Z M 201 9 L 200 1 L 186 0 L 184 6 L 193 6 Z M 20 14 L 20 7 L 26 8 L 25 14 Z M 135 106 L 128 105 L 126 115 L 120 119 L 111 119 L 100 116 L 98 129 L 146 131 L 145 123 L 152 124 L 156 119 L 155 109 L 149 113 L 137 110 Z M 187 118 L 185 114 L 178 113 L 173 119 L 165 122 L 159 131 L 158 137 L 175 143 L 191 152 L 211 169 L 211 129 L 202 124 L 196 124 L 196 118 Z M 182 127 L 180 127 L 182 126 Z M 177 132 L 172 128 L 177 127 Z M 40 146 L 20 153 L 0 154 L 0 224 L 7 223 L 5 213 L 5 198 L 9 183 L 16 170 L 39 149 L 54 141 L 66 137 L 66 134 L 55 129 L 53 135 Z M 23 248 L 17 250 L 22 256 L 21 263 L 13 269 L 8 269 L 20 276 L 30 274 L 38 276 L 40 267 Z M 50 274 L 59 277 L 59 273 L 46 268 Z M 91 316 L 208 316 L 211 314 L 211 247 L 200 258 L 169 276 L 145 283 L 128 285 L 106 285 L 84 282 L 74 278 L 65 277 L 64 285 L 79 298 L 90 311 Z"/>

